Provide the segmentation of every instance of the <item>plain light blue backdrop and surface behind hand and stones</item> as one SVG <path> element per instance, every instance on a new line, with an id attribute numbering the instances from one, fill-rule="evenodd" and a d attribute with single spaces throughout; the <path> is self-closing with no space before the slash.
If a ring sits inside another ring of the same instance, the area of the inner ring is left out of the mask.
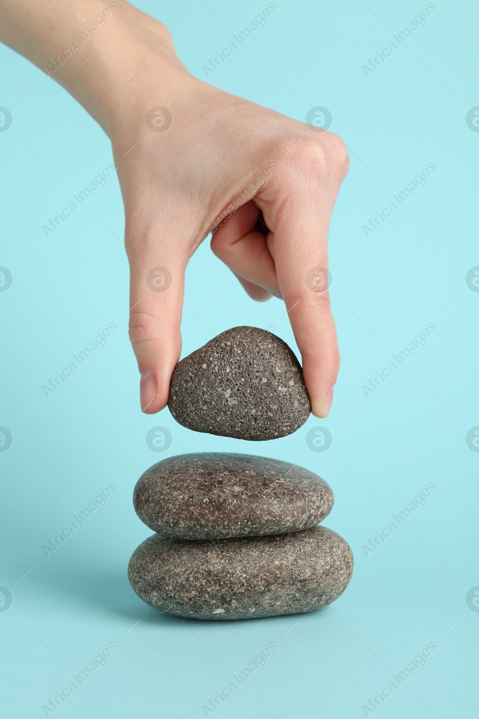
<path id="1" fill-rule="evenodd" d="M 266 666 L 215 717 L 359 718 L 432 642 L 427 666 L 377 711 L 383 719 L 477 711 L 479 613 L 465 596 L 479 585 L 479 454 L 465 435 L 479 425 L 479 293 L 465 275 L 479 265 L 479 133 L 465 115 L 479 105 L 478 7 L 438 0 L 427 25 L 366 78 L 362 65 L 427 2 L 367 4 L 279 0 L 266 27 L 209 78 L 300 120 L 326 106 L 350 149 L 330 229 L 342 358 L 335 401 L 327 420 L 311 417 L 268 443 L 195 434 L 167 410 L 141 415 L 116 177 L 55 234 L 42 232 L 111 162 L 108 139 L 60 86 L 1 47 L 0 105 L 14 116 L 0 134 L 0 265 L 13 275 L 0 293 L 0 425 L 14 436 L 0 454 L 0 585 L 14 597 L 0 613 L 4 716 L 43 716 L 42 705 L 111 642 L 117 651 L 58 710 L 64 718 L 200 718 L 209 697 L 271 642 L 278 649 Z M 171 29 L 199 77 L 263 6 L 141 3 Z M 429 162 L 437 171 L 427 186 L 366 239 L 362 225 Z M 297 351 L 284 304 L 248 299 L 208 242 L 187 268 L 185 305 L 182 356 L 240 324 L 276 324 Z M 110 322 L 118 330 L 106 347 L 46 398 L 42 385 Z M 437 331 L 427 345 L 366 398 L 362 385 L 430 322 Z M 145 441 L 157 425 L 173 435 L 164 455 Z M 305 442 L 320 425 L 333 436 L 323 454 Z M 299 462 L 330 483 L 326 525 L 355 555 L 350 586 L 330 610 L 205 623 L 157 614 L 136 597 L 126 564 L 151 533 L 131 503 L 136 479 L 162 457 L 203 450 Z M 118 490 L 108 504 L 47 559 L 42 545 L 110 482 Z M 437 490 L 427 505 L 366 557 L 363 545 L 429 482 Z"/>

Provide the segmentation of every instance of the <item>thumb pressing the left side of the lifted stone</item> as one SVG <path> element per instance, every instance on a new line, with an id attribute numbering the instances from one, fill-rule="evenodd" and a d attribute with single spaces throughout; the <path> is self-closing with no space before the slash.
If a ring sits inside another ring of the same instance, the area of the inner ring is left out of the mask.
<path id="1" fill-rule="evenodd" d="M 161 229 L 163 237 L 175 237 Z M 138 362 L 141 411 L 154 414 L 168 402 L 169 381 L 180 359 L 186 260 L 178 245 L 160 244 L 159 228 L 126 249 L 130 264 L 129 336 Z"/>

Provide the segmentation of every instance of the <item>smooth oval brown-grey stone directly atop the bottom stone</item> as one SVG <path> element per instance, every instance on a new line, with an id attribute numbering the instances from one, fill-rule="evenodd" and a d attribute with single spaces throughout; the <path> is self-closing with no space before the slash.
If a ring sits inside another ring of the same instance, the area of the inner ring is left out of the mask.
<path id="1" fill-rule="evenodd" d="M 141 475 L 133 493 L 142 522 L 182 539 L 296 532 L 320 523 L 333 502 L 331 487 L 309 470 L 221 452 L 163 459 Z"/>

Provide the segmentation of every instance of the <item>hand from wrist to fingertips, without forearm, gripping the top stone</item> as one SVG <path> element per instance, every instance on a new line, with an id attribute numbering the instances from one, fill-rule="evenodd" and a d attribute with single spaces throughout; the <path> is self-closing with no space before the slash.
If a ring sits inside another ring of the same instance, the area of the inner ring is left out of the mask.
<path id="1" fill-rule="evenodd" d="M 148 65 L 141 88 L 135 86 L 142 111 L 131 122 L 121 122 L 118 111 L 112 136 L 125 203 L 130 338 L 141 372 L 141 408 L 154 413 L 167 403 L 181 351 L 185 267 L 219 224 L 211 247 L 246 292 L 259 301 L 284 298 L 312 412 L 325 417 L 339 370 L 338 340 L 329 293 L 313 291 L 307 273 L 327 267 L 330 216 L 348 170 L 344 143 L 182 68 L 172 68 L 172 89 L 159 93 L 162 68 L 154 53 Z M 166 132 L 145 122 L 149 106 L 157 105 L 172 114 Z M 165 292 L 147 285 L 156 266 L 171 273 Z"/>

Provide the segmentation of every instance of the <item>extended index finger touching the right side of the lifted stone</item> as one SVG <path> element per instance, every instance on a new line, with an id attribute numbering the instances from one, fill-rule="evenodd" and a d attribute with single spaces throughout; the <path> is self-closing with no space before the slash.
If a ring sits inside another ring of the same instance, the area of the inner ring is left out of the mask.
<path id="1" fill-rule="evenodd" d="M 327 134 L 335 139 L 325 145 L 303 142 L 295 146 L 287 165 L 287 197 L 281 197 L 276 212 L 271 208 L 276 275 L 302 355 L 312 413 L 317 417 L 330 411 L 340 365 L 330 307 L 327 232 L 348 170 L 343 143 Z"/>

